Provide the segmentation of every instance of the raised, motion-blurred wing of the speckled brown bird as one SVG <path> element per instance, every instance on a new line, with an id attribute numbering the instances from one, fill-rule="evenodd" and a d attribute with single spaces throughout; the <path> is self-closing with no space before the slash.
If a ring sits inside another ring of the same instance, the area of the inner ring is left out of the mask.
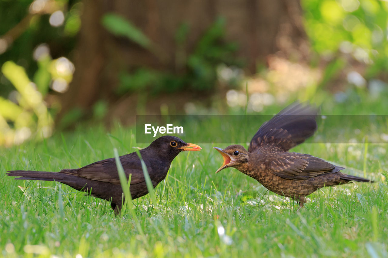
<path id="1" fill-rule="evenodd" d="M 317 108 L 295 102 L 260 126 L 249 144 L 252 152 L 263 145 L 283 151 L 303 143 L 317 129 Z"/>

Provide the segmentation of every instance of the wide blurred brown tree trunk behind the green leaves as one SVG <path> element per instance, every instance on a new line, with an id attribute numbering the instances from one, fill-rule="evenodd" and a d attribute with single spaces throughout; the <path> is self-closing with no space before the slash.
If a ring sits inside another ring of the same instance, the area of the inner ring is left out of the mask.
<path id="1" fill-rule="evenodd" d="M 73 107 L 86 112 L 100 98 L 111 100 L 120 69 L 146 66 L 179 71 L 175 33 L 186 22 L 189 35 L 185 53 L 217 17 L 226 19 L 226 40 L 238 43 L 238 56 L 246 60 L 246 72 L 280 53 L 299 61 L 307 56 L 308 43 L 299 0 L 83 0 L 81 30 L 74 51 L 73 82 L 61 98 L 62 114 Z M 115 12 L 156 43 L 159 57 L 136 43 L 110 34 L 101 25 L 107 12 Z"/>

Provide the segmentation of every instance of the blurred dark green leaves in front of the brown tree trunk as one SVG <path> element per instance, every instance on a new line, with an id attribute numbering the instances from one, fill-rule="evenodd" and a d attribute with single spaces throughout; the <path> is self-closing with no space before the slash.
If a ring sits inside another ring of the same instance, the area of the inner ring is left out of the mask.
<path id="1" fill-rule="evenodd" d="M 116 14 L 106 14 L 102 18 L 104 27 L 118 36 L 125 36 L 158 56 L 157 44 L 145 36 L 130 21 Z M 242 66 L 234 53 L 235 43 L 226 42 L 225 19 L 218 18 L 208 28 L 194 50 L 185 53 L 189 25 L 182 23 L 175 33 L 176 68 L 184 72 L 157 71 L 150 67 L 139 67 L 133 72 L 120 73 L 118 95 L 128 92 L 148 90 L 151 94 L 175 92 L 182 89 L 192 91 L 212 90 L 217 80 L 217 66 L 220 64 Z"/>

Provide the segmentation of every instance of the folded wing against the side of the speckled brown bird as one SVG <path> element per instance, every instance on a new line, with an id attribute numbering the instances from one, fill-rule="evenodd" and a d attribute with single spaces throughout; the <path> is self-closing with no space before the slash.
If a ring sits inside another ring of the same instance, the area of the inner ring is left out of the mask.
<path id="1" fill-rule="evenodd" d="M 320 158 L 300 153 L 281 153 L 269 164 L 269 171 L 285 179 L 308 179 L 336 173 L 343 167 L 335 166 Z"/>

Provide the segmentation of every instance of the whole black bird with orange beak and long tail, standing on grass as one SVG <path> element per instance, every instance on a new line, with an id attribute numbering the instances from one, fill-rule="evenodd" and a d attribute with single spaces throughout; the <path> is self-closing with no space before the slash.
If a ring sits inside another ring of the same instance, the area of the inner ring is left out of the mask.
<path id="1" fill-rule="evenodd" d="M 153 141 L 147 148 L 140 150 L 154 187 L 165 179 L 173 159 L 185 150 L 199 151 L 201 147 L 185 143 L 175 136 L 162 136 Z M 132 199 L 147 194 L 147 185 L 137 153 L 132 152 L 120 156 L 120 161 L 127 178 L 129 174 L 132 174 L 130 183 Z M 62 169 L 59 172 L 12 170 L 8 171 L 7 175 L 19 176 L 15 179 L 61 182 L 78 191 L 84 191 L 97 198 L 110 201 L 115 214 L 121 210 L 123 190 L 114 158 L 100 160 L 79 169 Z"/>

